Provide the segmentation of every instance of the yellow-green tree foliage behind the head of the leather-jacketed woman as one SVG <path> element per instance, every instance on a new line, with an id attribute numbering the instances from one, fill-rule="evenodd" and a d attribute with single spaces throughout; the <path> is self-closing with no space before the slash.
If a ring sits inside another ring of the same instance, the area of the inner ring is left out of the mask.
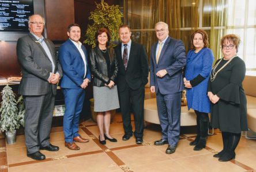
<path id="1" fill-rule="evenodd" d="M 96 2 L 95 2 L 96 3 Z M 93 20 L 92 25 L 88 25 L 85 36 L 85 44 L 96 46 L 95 33 L 99 28 L 108 28 L 110 30 L 110 46 L 115 46 L 113 41 L 118 40 L 118 29 L 122 25 L 123 14 L 119 10 L 119 5 L 108 5 L 104 0 L 99 4 L 96 3 L 95 11 L 91 12 L 89 19 Z"/>

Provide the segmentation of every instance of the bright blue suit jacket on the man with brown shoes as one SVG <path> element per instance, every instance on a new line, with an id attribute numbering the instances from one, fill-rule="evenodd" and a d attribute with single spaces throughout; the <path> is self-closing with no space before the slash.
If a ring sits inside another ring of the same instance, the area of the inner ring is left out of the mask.
<path id="1" fill-rule="evenodd" d="M 84 79 L 91 80 L 91 71 L 88 66 L 88 55 L 85 46 L 82 45 L 82 50 L 85 54 L 86 60 L 86 75 L 84 75 L 85 66 L 82 56 L 69 39 L 64 42 L 59 48 L 59 62 L 63 70 L 63 77 L 61 78 L 61 88 L 81 88 L 80 85 Z M 85 76 L 85 77 L 84 77 Z"/>

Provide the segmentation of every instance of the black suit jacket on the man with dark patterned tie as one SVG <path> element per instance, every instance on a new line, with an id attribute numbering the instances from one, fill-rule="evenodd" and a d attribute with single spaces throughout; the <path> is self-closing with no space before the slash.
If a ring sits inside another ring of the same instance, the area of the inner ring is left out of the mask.
<path id="1" fill-rule="evenodd" d="M 144 87 L 148 83 L 148 57 L 143 45 L 131 41 L 131 48 L 127 68 L 123 65 L 122 44 L 115 47 L 116 58 L 118 60 L 118 91 L 125 90 L 126 85 L 132 89 Z"/>

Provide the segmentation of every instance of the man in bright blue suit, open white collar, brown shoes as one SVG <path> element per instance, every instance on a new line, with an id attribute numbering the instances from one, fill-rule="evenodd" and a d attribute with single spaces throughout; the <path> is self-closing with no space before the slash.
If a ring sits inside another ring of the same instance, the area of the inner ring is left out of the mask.
<path id="1" fill-rule="evenodd" d="M 79 116 L 84 104 L 85 88 L 91 80 L 88 68 L 87 52 L 81 44 L 81 29 L 77 24 L 67 28 L 69 39 L 59 48 L 59 61 L 63 68 L 61 88 L 65 96 L 65 114 L 63 131 L 65 146 L 70 150 L 79 150 L 75 142 L 86 143 L 88 139 L 78 134 Z"/>

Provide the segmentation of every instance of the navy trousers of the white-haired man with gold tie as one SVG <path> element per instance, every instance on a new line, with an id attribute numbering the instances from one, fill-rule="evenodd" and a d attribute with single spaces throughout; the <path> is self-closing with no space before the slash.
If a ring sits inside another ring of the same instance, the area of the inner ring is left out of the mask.
<path id="1" fill-rule="evenodd" d="M 156 93 L 157 112 L 162 128 L 162 139 L 176 146 L 180 134 L 181 92 L 162 95 Z"/>

